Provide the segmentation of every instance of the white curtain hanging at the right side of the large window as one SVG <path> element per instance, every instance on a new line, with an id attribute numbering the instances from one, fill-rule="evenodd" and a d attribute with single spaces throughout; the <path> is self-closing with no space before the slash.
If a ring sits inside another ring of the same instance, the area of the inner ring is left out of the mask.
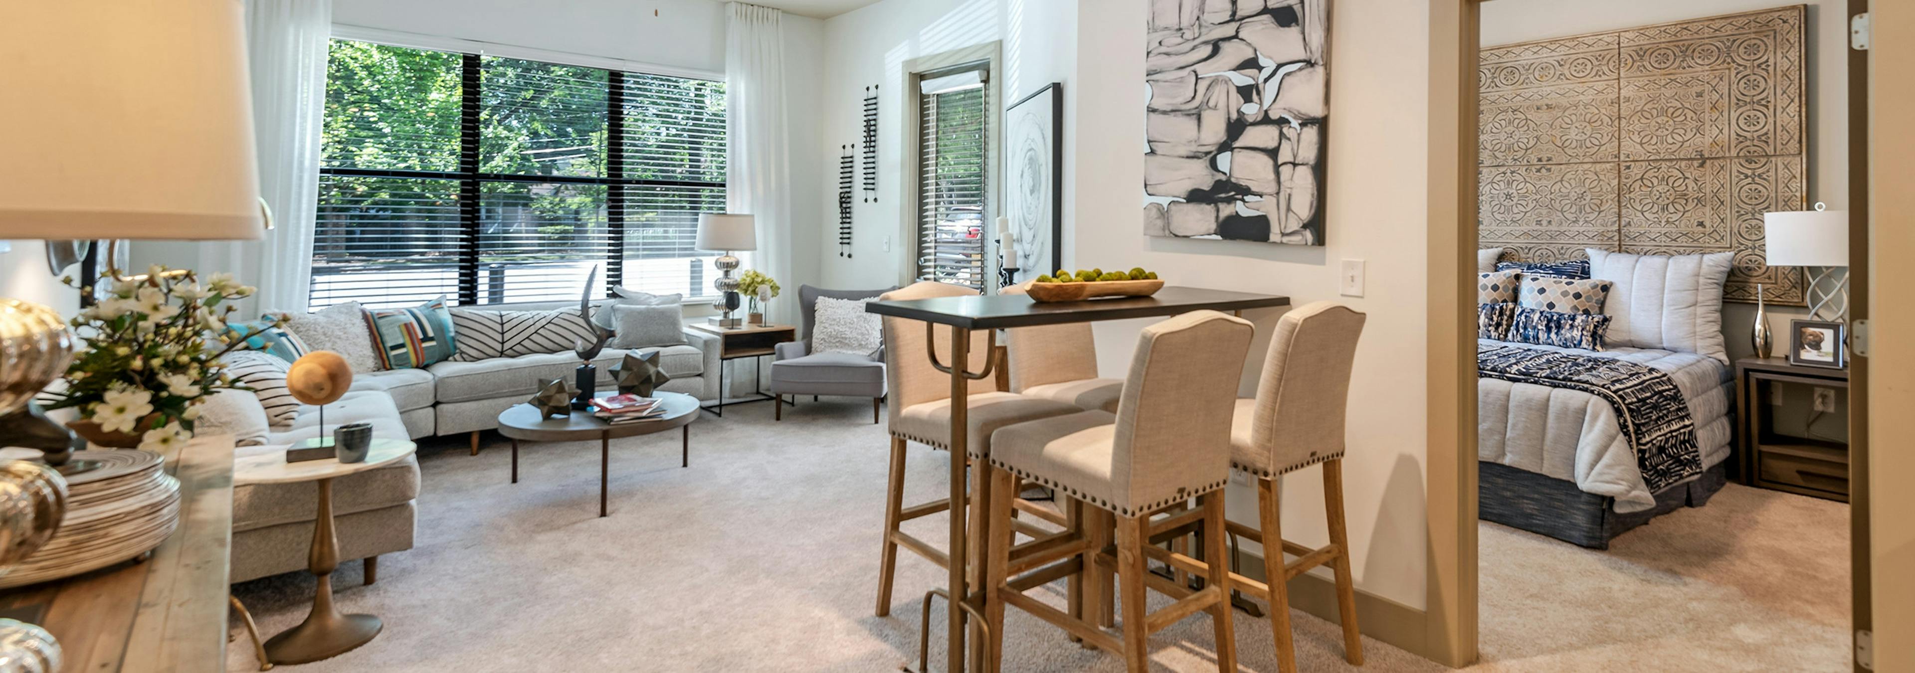
<path id="1" fill-rule="evenodd" d="M 758 226 L 758 249 L 747 256 L 747 266 L 777 279 L 783 289 L 772 300 L 766 319 L 797 325 L 783 11 L 728 2 L 726 13 L 726 206 L 730 212 L 751 214 Z"/>

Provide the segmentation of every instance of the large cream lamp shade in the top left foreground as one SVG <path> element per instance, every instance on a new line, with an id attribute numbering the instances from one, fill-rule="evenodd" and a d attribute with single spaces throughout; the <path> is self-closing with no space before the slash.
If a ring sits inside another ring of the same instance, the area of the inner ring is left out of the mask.
<path id="1" fill-rule="evenodd" d="M 241 0 L 8 2 L 0 239 L 259 239 Z"/>

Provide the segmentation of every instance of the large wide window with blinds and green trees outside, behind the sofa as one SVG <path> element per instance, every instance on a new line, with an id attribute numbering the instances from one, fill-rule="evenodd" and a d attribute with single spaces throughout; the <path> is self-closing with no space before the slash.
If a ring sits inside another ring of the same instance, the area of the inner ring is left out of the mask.
<path id="1" fill-rule="evenodd" d="M 312 306 L 705 294 L 724 82 L 333 40 Z"/>

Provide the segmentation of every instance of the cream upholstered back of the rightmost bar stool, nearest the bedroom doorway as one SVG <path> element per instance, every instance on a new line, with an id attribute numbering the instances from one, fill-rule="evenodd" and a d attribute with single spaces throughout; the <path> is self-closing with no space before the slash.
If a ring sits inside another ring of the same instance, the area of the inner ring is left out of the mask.
<path id="1" fill-rule="evenodd" d="M 1237 402 L 1239 436 L 1231 451 L 1237 468 L 1272 476 L 1342 457 L 1350 369 L 1363 319 L 1335 302 L 1304 304 L 1277 319 L 1256 400 Z"/>

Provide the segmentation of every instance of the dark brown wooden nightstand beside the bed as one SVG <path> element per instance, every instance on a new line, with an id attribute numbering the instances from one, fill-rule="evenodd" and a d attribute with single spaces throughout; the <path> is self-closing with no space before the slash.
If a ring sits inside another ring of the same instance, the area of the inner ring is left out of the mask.
<path id="1" fill-rule="evenodd" d="M 1735 361 L 1743 484 L 1848 501 L 1848 369 Z"/>

